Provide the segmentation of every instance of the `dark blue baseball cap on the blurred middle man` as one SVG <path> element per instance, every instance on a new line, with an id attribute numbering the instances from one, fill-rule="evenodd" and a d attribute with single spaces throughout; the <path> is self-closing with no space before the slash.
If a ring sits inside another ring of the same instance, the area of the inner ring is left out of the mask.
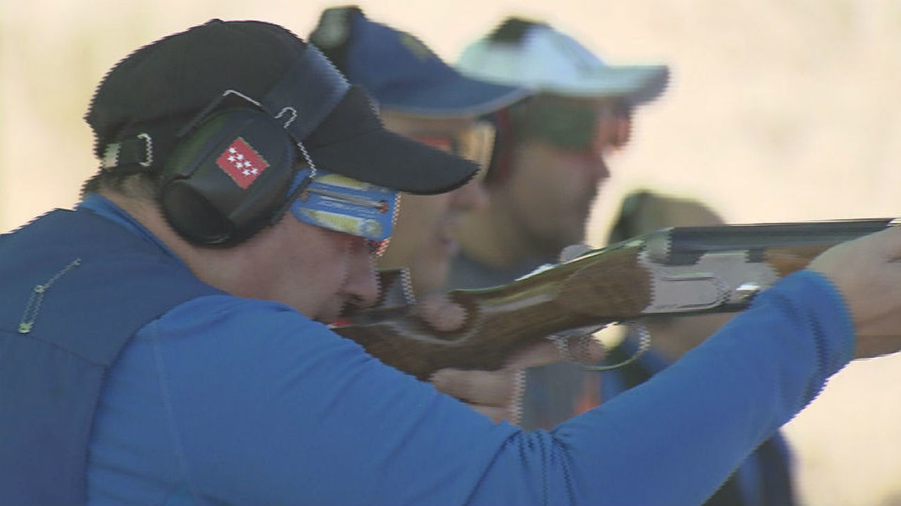
<path id="1" fill-rule="evenodd" d="M 324 10 L 309 41 L 383 109 L 481 115 L 531 94 L 527 88 L 464 77 L 410 33 L 372 22 L 356 6 Z"/>

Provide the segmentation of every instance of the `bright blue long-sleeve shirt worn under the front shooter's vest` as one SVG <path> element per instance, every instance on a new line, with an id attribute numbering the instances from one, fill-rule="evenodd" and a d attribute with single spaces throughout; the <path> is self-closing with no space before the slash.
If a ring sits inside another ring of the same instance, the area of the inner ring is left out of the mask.
<path id="1" fill-rule="evenodd" d="M 156 240 L 114 206 L 88 204 Z M 797 273 L 647 383 L 550 431 L 523 432 L 285 305 L 204 296 L 143 327 L 110 371 L 88 498 L 699 503 L 852 346 L 833 285 Z"/>

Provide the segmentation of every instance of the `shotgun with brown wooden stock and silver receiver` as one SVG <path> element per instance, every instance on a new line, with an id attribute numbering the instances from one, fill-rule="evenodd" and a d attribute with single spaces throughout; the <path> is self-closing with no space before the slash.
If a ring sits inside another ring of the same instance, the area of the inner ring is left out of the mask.
<path id="1" fill-rule="evenodd" d="M 494 370 L 536 339 L 651 314 L 739 312 L 825 249 L 901 223 L 868 219 L 674 227 L 587 251 L 508 285 L 455 290 L 454 331 L 411 311 L 404 273 L 383 276 L 378 307 L 334 330 L 389 366 L 426 380 L 445 367 Z"/>

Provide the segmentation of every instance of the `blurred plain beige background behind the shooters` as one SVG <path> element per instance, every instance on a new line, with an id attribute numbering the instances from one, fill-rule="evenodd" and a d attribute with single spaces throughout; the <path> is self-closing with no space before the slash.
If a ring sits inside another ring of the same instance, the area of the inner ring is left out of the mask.
<path id="1" fill-rule="evenodd" d="M 332 5 L 0 0 L 0 231 L 76 201 L 96 169 L 81 117 L 129 51 L 211 17 L 271 21 L 305 37 Z M 901 216 L 901 1 L 359 5 L 449 60 L 503 16 L 524 14 L 611 63 L 669 63 L 668 94 L 639 112 L 632 144 L 610 160 L 595 242 L 639 186 L 700 198 L 732 222 Z M 802 499 L 901 504 L 899 431 L 901 357 L 847 367 L 787 426 Z"/>

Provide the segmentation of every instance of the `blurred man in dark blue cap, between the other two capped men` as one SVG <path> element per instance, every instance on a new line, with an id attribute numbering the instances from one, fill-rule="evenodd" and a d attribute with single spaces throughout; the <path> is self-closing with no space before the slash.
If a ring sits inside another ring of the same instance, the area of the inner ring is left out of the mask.
<path id="1" fill-rule="evenodd" d="M 413 35 L 374 23 L 357 7 L 323 11 L 310 41 L 351 83 L 369 91 L 389 130 L 483 167 L 494 128 L 479 117 L 528 93 L 460 75 Z M 486 198 L 478 176 L 448 194 L 405 194 L 395 236 L 378 267 L 408 267 L 417 295 L 438 291 L 457 253 L 454 236 L 463 212 L 484 206 Z"/>

